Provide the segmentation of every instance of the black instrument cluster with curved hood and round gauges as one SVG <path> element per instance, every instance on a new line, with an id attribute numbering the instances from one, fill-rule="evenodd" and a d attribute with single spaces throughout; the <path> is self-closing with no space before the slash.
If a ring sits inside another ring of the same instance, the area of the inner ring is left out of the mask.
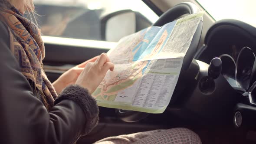
<path id="1" fill-rule="evenodd" d="M 219 57 L 221 74 L 234 89 L 246 92 L 255 82 L 255 31 L 253 26 L 238 20 L 219 21 L 209 29 L 206 45 L 197 53 L 196 59 L 209 64 L 214 57 Z"/>

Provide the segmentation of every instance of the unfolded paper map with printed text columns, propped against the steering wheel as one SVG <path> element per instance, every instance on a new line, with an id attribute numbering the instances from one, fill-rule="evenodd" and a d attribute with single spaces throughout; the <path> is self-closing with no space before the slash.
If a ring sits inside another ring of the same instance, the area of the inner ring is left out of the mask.
<path id="1" fill-rule="evenodd" d="M 163 113 L 171 101 L 181 66 L 204 12 L 151 26 L 122 38 L 107 55 L 113 72 L 92 93 L 108 108 Z"/>

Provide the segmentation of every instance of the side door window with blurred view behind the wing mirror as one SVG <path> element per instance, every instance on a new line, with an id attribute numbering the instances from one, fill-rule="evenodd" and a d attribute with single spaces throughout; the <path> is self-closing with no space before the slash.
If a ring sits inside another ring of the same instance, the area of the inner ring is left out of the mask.
<path id="1" fill-rule="evenodd" d="M 101 20 L 110 13 L 132 10 L 151 23 L 158 20 L 158 16 L 141 0 L 34 0 L 34 3 L 39 27 L 45 36 L 116 42 L 119 39 L 102 38 Z M 112 25 L 120 27 L 118 20 Z M 131 33 L 134 28 L 124 26 L 123 29 Z"/>

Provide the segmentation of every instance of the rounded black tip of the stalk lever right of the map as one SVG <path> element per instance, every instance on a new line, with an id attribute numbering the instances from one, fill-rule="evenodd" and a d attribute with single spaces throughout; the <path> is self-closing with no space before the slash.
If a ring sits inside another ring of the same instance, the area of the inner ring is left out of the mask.
<path id="1" fill-rule="evenodd" d="M 222 62 L 220 58 L 213 58 L 208 68 L 208 76 L 212 79 L 217 79 L 222 69 Z"/>

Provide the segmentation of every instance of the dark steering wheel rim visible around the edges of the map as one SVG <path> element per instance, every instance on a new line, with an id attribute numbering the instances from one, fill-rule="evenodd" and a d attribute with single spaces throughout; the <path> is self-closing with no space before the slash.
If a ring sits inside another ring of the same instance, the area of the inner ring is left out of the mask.
<path id="1" fill-rule="evenodd" d="M 174 6 L 173 8 L 167 10 L 165 13 L 163 13 L 159 17 L 158 21 L 155 22 L 152 26 L 163 26 L 164 24 L 170 23 L 184 14 L 193 14 L 199 11 L 200 9 L 194 3 L 190 3 L 190 2 L 180 3 Z M 181 91 L 181 87 L 184 87 L 184 85 L 186 84 L 187 79 L 186 77 L 184 79 L 183 75 L 189 69 L 189 66 L 194 58 L 194 55 L 197 52 L 197 46 L 200 42 L 202 28 L 203 28 L 203 20 L 200 21 L 199 26 L 197 27 L 197 30 L 191 41 L 190 47 L 187 50 L 187 53 L 184 57 L 183 64 L 181 67 L 181 73 L 180 73 L 177 85 L 175 87 L 174 94 L 171 98 L 171 102 L 175 101 L 176 98 L 174 95 L 178 95 L 178 93 Z M 145 113 L 145 112 L 128 111 L 128 110 L 122 110 L 122 109 L 116 109 L 116 114 L 122 121 L 125 121 L 125 122 L 136 122 L 150 115 L 149 113 Z"/>

